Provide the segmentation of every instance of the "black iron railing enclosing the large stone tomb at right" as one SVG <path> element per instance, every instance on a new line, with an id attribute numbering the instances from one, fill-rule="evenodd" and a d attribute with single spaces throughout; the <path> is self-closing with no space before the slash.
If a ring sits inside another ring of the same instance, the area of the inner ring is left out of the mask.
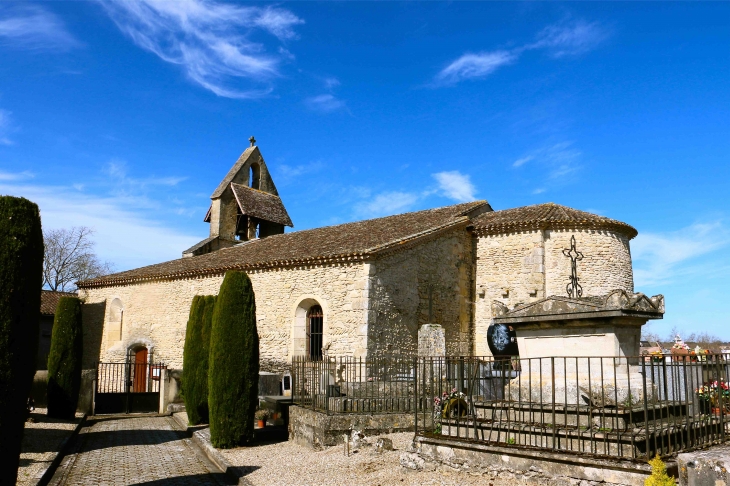
<path id="1" fill-rule="evenodd" d="M 418 358 L 416 435 L 629 459 L 721 443 L 729 358 Z"/>

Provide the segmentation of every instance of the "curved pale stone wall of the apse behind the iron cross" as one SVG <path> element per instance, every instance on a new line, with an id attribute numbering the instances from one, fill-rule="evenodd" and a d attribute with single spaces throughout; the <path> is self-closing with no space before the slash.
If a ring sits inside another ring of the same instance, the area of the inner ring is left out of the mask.
<path id="1" fill-rule="evenodd" d="M 584 296 L 611 290 L 633 292 L 631 252 L 626 236 L 606 230 L 531 230 L 476 238 L 474 354 L 490 355 L 487 328 L 492 301 L 510 309 L 551 295 L 565 295 L 570 259 L 563 255 L 575 235 Z"/>

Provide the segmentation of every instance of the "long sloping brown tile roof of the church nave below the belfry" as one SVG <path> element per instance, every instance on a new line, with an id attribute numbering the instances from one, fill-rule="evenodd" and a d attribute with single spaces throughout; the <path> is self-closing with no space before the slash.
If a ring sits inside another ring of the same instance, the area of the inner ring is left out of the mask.
<path id="1" fill-rule="evenodd" d="M 469 224 L 470 213 L 491 210 L 486 201 L 398 214 L 386 218 L 326 226 L 251 240 L 205 255 L 181 258 L 79 282 L 80 288 L 145 280 L 211 275 L 226 270 L 255 270 L 314 263 L 365 260 L 376 254 Z"/>

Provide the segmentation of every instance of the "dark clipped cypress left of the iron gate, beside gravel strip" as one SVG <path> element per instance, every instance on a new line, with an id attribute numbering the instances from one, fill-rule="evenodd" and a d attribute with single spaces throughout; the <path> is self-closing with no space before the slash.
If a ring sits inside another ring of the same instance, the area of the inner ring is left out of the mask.
<path id="1" fill-rule="evenodd" d="M 73 418 L 81 388 L 81 301 L 61 297 L 53 319 L 51 351 L 48 354 L 48 415 Z"/>

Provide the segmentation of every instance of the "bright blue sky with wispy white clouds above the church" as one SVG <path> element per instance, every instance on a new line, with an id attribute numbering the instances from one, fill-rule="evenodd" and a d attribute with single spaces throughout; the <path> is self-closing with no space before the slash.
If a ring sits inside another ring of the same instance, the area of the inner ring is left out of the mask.
<path id="1" fill-rule="evenodd" d="M 207 235 L 255 135 L 296 229 L 486 199 L 628 222 L 730 340 L 730 3 L 0 3 L 0 194 L 118 270 Z"/>

